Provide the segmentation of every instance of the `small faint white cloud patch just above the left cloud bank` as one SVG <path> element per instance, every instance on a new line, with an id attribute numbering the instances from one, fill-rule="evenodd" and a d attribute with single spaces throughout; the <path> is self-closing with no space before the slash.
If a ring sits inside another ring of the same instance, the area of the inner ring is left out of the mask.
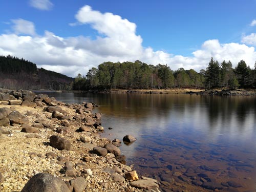
<path id="1" fill-rule="evenodd" d="M 35 26 L 29 20 L 24 20 L 22 18 L 12 19 L 12 29 L 15 34 L 27 34 L 27 35 L 35 35 Z"/>

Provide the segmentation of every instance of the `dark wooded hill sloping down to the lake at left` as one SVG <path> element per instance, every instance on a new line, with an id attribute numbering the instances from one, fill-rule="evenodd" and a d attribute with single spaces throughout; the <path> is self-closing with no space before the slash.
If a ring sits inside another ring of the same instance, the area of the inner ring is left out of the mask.
<path id="1" fill-rule="evenodd" d="M 73 78 L 44 68 L 35 63 L 13 56 L 0 56 L 0 88 L 68 90 Z"/>

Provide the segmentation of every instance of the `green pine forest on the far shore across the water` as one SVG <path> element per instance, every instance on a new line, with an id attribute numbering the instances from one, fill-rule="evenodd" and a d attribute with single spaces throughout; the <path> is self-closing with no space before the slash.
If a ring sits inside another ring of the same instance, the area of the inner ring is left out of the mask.
<path id="1" fill-rule="evenodd" d="M 180 68 L 173 71 L 167 65 L 147 65 L 135 62 L 103 62 L 92 68 L 86 76 L 78 74 L 73 83 L 74 90 L 91 89 L 255 89 L 256 62 L 254 69 L 241 60 L 236 68 L 230 61 L 211 58 L 206 69 L 196 72 Z"/>

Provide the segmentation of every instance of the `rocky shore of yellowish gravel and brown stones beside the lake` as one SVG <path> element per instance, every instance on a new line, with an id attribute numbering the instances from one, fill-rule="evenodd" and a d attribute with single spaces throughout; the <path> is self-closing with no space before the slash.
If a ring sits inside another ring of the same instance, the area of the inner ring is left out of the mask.
<path id="1" fill-rule="evenodd" d="M 0 191 L 160 191 L 125 164 L 119 139 L 100 138 L 96 106 L 1 90 Z"/>

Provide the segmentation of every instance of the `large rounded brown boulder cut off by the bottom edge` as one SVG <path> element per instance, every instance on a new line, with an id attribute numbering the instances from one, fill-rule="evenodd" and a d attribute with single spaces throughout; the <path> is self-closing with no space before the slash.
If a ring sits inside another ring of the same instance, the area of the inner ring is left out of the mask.
<path id="1" fill-rule="evenodd" d="M 36 174 L 24 186 L 21 192 L 70 192 L 66 183 L 50 174 Z"/>

